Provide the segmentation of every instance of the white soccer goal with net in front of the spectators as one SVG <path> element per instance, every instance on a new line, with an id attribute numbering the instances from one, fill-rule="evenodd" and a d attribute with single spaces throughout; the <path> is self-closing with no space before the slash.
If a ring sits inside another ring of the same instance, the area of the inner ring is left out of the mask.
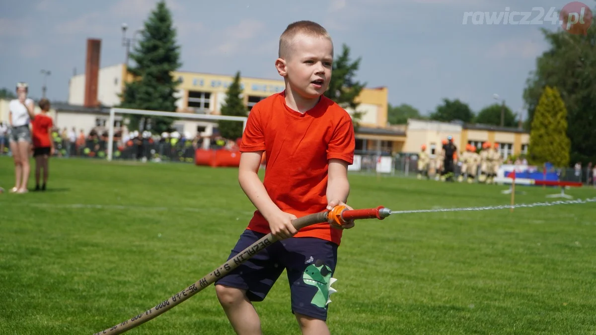
<path id="1" fill-rule="evenodd" d="M 169 131 L 161 134 L 151 132 L 151 123 L 144 123 L 146 129 L 131 125 L 129 115 L 137 114 L 144 119 L 151 116 L 172 117 Z M 229 139 L 218 134 L 218 120 L 243 123 L 247 117 L 214 114 L 175 113 L 171 111 L 138 110 L 130 108 L 110 108 L 107 122 L 107 160 L 138 159 L 153 161 L 193 162 L 197 148 L 225 147 Z M 138 130 L 136 130 L 138 129 Z M 232 139 L 234 140 L 234 139 Z"/>

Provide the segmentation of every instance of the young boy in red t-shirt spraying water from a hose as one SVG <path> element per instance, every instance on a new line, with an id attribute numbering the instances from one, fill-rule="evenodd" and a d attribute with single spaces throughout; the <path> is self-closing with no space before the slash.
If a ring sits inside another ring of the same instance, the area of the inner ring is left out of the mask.
<path id="1" fill-rule="evenodd" d="M 311 21 L 290 24 L 275 61 L 285 90 L 260 101 L 249 114 L 238 180 L 257 210 L 229 257 L 269 232 L 281 241 L 216 282 L 219 302 L 237 334 L 261 333 L 252 302 L 265 299 L 284 269 L 302 334 L 329 334 L 328 291 L 342 229 L 316 224 L 297 232 L 291 221 L 345 205 L 349 194 L 354 130 L 349 114 L 323 95 L 332 63 L 333 42 L 323 27 Z M 263 153 L 261 182 L 257 171 Z M 350 222 L 343 228 L 352 227 Z"/>

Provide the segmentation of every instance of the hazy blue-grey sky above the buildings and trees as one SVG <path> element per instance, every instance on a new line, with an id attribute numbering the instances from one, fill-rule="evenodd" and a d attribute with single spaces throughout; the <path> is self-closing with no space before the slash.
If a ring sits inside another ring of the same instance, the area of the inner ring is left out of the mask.
<path id="1" fill-rule="evenodd" d="M 287 24 L 323 24 L 336 52 L 350 46 L 362 57 L 358 79 L 387 86 L 389 103 L 407 103 L 423 114 L 442 98 L 460 98 L 474 111 L 499 94 L 514 111 L 547 44 L 543 24 L 462 24 L 465 12 L 557 10 L 567 1 L 504 0 L 241 0 L 166 1 L 178 28 L 180 70 L 280 79 L 277 43 Z M 120 26 L 128 36 L 142 27 L 156 0 L 24 0 L 0 5 L 0 87 L 30 83 L 41 97 L 41 70 L 51 71 L 47 95 L 66 101 L 68 81 L 85 71 L 87 38 L 100 38 L 101 66 L 123 63 Z M 593 8 L 594 3 L 588 2 Z M 519 20 L 519 18 L 518 18 Z M 592 27 L 594 29 L 594 27 Z M 524 113 L 525 114 L 525 113 Z"/>

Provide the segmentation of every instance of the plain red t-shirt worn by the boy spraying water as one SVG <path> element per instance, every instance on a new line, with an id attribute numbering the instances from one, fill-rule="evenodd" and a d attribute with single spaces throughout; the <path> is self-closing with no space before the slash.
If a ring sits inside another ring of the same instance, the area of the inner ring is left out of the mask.
<path id="1" fill-rule="evenodd" d="M 329 160 L 352 164 L 354 148 L 352 118 L 342 107 L 323 96 L 302 114 L 285 104 L 284 92 L 254 105 L 240 144 L 242 152 L 265 150 L 265 190 L 281 210 L 298 218 L 326 209 Z M 259 210 L 248 229 L 271 232 Z M 342 231 L 327 223 L 315 224 L 294 237 L 317 237 L 339 245 Z"/>

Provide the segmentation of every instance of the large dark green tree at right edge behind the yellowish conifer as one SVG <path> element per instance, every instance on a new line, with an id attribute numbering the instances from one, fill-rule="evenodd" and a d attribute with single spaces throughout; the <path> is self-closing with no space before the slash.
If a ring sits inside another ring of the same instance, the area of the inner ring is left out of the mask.
<path id="1" fill-rule="evenodd" d="M 596 161 L 596 29 L 585 33 L 542 29 L 550 46 L 536 59 L 523 94 L 529 114 L 525 126 L 530 129 L 544 88 L 558 89 L 568 112 L 570 160 L 584 164 Z"/>

